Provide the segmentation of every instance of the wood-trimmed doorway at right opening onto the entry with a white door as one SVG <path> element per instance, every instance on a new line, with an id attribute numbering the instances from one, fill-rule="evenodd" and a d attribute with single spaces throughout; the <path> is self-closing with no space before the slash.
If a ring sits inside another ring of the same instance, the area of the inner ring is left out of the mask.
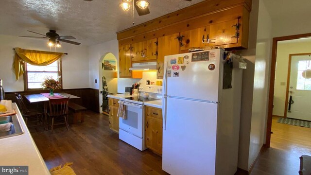
<path id="1" fill-rule="evenodd" d="M 291 151 L 300 156 L 311 152 L 311 128 L 280 122 L 295 116 L 301 119 L 299 111 L 310 110 L 306 104 L 311 103 L 311 98 L 300 98 L 304 96 L 301 92 L 306 93 L 301 88 L 308 88 L 309 83 L 309 79 L 303 77 L 302 72 L 309 69 L 307 60 L 311 53 L 310 44 L 311 34 L 292 35 L 273 38 L 272 48 L 265 146 Z M 305 104 L 305 107 L 301 104 Z"/>

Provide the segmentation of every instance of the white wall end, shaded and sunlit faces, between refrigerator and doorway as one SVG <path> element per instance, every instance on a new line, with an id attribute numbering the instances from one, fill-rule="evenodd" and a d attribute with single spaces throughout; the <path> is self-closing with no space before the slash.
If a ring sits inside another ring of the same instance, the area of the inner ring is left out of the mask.
<path id="1" fill-rule="evenodd" d="M 253 0 L 250 14 L 249 49 L 243 71 L 242 114 L 238 167 L 249 170 L 265 139 L 272 21 L 262 0 Z"/>

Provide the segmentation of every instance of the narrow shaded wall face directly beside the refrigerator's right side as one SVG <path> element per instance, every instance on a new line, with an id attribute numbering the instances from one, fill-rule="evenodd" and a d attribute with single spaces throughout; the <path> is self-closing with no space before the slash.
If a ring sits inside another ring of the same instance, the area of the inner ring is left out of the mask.
<path id="1" fill-rule="evenodd" d="M 239 158 L 238 167 L 243 170 L 248 170 L 258 10 L 259 10 L 259 0 L 253 0 L 252 11 L 250 13 L 248 49 L 243 50 L 240 53 L 244 58 L 245 62 L 247 63 L 247 69 L 243 70 L 239 157 L 238 157 Z"/>

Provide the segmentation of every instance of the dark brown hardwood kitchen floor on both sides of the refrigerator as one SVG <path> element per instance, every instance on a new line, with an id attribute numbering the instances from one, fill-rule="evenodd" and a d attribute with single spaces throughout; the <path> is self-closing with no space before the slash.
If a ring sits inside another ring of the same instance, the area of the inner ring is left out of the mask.
<path id="1" fill-rule="evenodd" d="M 54 129 L 30 128 L 47 167 L 73 162 L 77 175 L 167 175 L 162 157 L 119 140 L 109 129 L 108 116 L 84 112 L 85 123 Z M 225 168 L 225 165 L 224 165 Z M 251 175 L 298 175 L 299 156 L 291 150 L 264 148 Z M 237 173 L 236 175 L 244 175 Z"/>

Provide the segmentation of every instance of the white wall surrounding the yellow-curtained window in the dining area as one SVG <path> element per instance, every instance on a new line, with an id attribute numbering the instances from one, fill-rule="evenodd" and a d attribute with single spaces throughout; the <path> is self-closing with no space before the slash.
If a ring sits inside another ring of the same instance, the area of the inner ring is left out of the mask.
<path id="1" fill-rule="evenodd" d="M 0 79 L 4 81 L 6 92 L 23 91 L 23 76 L 18 81 L 15 80 L 13 70 L 14 50 L 22 49 L 50 51 L 47 40 L 31 39 L 18 36 L 0 35 Z M 62 56 L 63 88 L 88 88 L 88 50 L 86 46 L 76 46 L 68 43 L 61 43 L 62 47 L 57 48 L 57 52 L 68 53 Z M 55 48 L 52 52 L 55 51 Z"/>

